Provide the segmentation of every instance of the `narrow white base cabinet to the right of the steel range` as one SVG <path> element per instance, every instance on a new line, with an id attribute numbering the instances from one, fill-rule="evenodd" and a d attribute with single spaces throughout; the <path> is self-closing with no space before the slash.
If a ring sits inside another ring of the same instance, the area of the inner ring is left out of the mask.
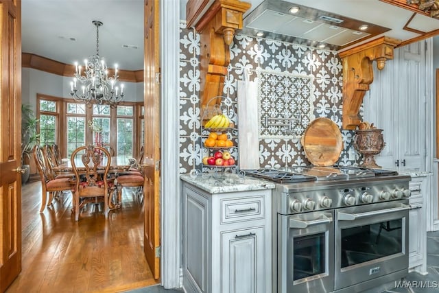
<path id="1" fill-rule="evenodd" d="M 426 219 L 423 193 L 426 192 L 426 177 L 414 177 L 410 182 L 409 212 L 409 269 L 427 274 Z"/>

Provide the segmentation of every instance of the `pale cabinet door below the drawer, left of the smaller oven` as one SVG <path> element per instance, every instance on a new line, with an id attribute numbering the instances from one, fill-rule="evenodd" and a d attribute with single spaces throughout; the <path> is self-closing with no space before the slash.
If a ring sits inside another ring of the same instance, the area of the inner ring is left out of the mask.
<path id="1" fill-rule="evenodd" d="M 230 293 L 264 292 L 264 228 L 222 234 L 222 290 Z"/>

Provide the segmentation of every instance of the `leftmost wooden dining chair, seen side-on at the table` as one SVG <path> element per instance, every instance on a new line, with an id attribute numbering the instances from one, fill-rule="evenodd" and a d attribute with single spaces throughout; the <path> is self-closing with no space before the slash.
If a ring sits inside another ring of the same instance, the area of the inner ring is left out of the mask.
<path id="1" fill-rule="evenodd" d="M 45 154 L 40 145 L 34 146 L 33 153 L 36 167 L 41 178 L 42 200 L 40 213 L 43 213 L 46 207 L 47 193 L 49 193 L 49 202 L 47 202 L 47 206 L 49 206 L 57 193 L 60 191 L 71 190 L 72 180 L 71 178 L 54 178 L 52 176 L 49 167 L 47 167 L 47 160 L 45 159 Z"/>

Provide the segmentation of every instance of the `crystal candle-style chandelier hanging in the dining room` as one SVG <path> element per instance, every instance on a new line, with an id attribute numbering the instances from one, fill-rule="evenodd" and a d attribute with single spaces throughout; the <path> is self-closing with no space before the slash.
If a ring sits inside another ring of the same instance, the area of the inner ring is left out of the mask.
<path id="1" fill-rule="evenodd" d="M 111 108 L 123 99 L 123 84 L 120 93 L 117 86 L 117 65 L 115 65 L 115 75 L 108 76 L 108 69 L 104 58 L 99 56 L 99 27 L 103 25 L 101 21 L 93 21 L 96 26 L 96 54 L 84 60 L 84 71 L 82 66 L 75 62 L 75 74 L 73 81 L 70 82 L 71 96 L 75 101 L 90 104 L 108 104 Z M 80 89 L 77 83 L 82 84 Z"/>

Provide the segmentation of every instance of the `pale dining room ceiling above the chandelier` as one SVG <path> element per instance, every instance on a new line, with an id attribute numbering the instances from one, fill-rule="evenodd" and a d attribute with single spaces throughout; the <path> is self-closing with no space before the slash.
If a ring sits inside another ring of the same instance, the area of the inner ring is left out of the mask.
<path id="1" fill-rule="evenodd" d="M 143 69 L 143 0 L 22 0 L 21 16 L 23 53 L 83 63 L 96 53 L 97 20 L 108 67 Z"/>

